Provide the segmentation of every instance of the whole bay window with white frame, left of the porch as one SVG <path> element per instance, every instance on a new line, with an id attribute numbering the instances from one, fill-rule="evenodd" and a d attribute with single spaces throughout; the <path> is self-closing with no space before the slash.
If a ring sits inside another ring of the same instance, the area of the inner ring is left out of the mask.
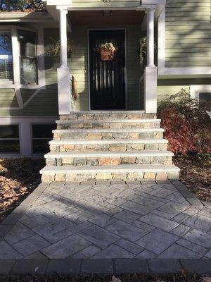
<path id="1" fill-rule="evenodd" d="M 0 27 L 0 87 L 44 86 L 43 38 L 37 38 L 38 32 L 25 27 Z"/>

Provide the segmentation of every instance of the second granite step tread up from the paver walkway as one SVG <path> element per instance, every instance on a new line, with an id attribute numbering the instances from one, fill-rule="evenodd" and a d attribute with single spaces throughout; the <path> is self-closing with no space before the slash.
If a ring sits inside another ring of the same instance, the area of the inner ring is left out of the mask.
<path id="1" fill-rule="evenodd" d="M 158 151 L 158 150 L 147 150 L 147 151 L 136 151 L 136 152 L 50 152 L 45 154 L 45 158 L 72 158 L 72 157 L 172 157 L 174 154 L 170 151 Z"/>

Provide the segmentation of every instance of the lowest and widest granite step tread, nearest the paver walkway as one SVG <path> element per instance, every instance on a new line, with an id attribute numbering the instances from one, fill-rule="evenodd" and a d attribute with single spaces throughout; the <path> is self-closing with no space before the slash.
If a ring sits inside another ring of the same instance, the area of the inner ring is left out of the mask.
<path id="1" fill-rule="evenodd" d="M 179 172 L 177 166 L 165 166 L 160 164 L 120 164 L 118 166 L 46 166 L 41 169 L 41 174 L 56 173 L 159 173 L 159 172 Z"/>

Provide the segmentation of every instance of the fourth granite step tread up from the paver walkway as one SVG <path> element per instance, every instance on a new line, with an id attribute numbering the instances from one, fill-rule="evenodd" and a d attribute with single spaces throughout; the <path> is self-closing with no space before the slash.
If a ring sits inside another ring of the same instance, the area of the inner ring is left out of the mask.
<path id="1" fill-rule="evenodd" d="M 53 133 L 149 133 L 164 132 L 163 128 L 121 128 L 121 129 L 56 129 Z"/>

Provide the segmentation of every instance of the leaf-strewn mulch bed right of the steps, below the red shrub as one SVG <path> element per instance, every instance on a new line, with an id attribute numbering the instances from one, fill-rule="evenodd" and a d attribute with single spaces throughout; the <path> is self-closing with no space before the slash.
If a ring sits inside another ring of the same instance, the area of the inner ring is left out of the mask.
<path id="1" fill-rule="evenodd" d="M 174 164 L 179 166 L 181 182 L 198 199 L 211 201 L 211 154 L 190 154 L 175 156 Z"/>

